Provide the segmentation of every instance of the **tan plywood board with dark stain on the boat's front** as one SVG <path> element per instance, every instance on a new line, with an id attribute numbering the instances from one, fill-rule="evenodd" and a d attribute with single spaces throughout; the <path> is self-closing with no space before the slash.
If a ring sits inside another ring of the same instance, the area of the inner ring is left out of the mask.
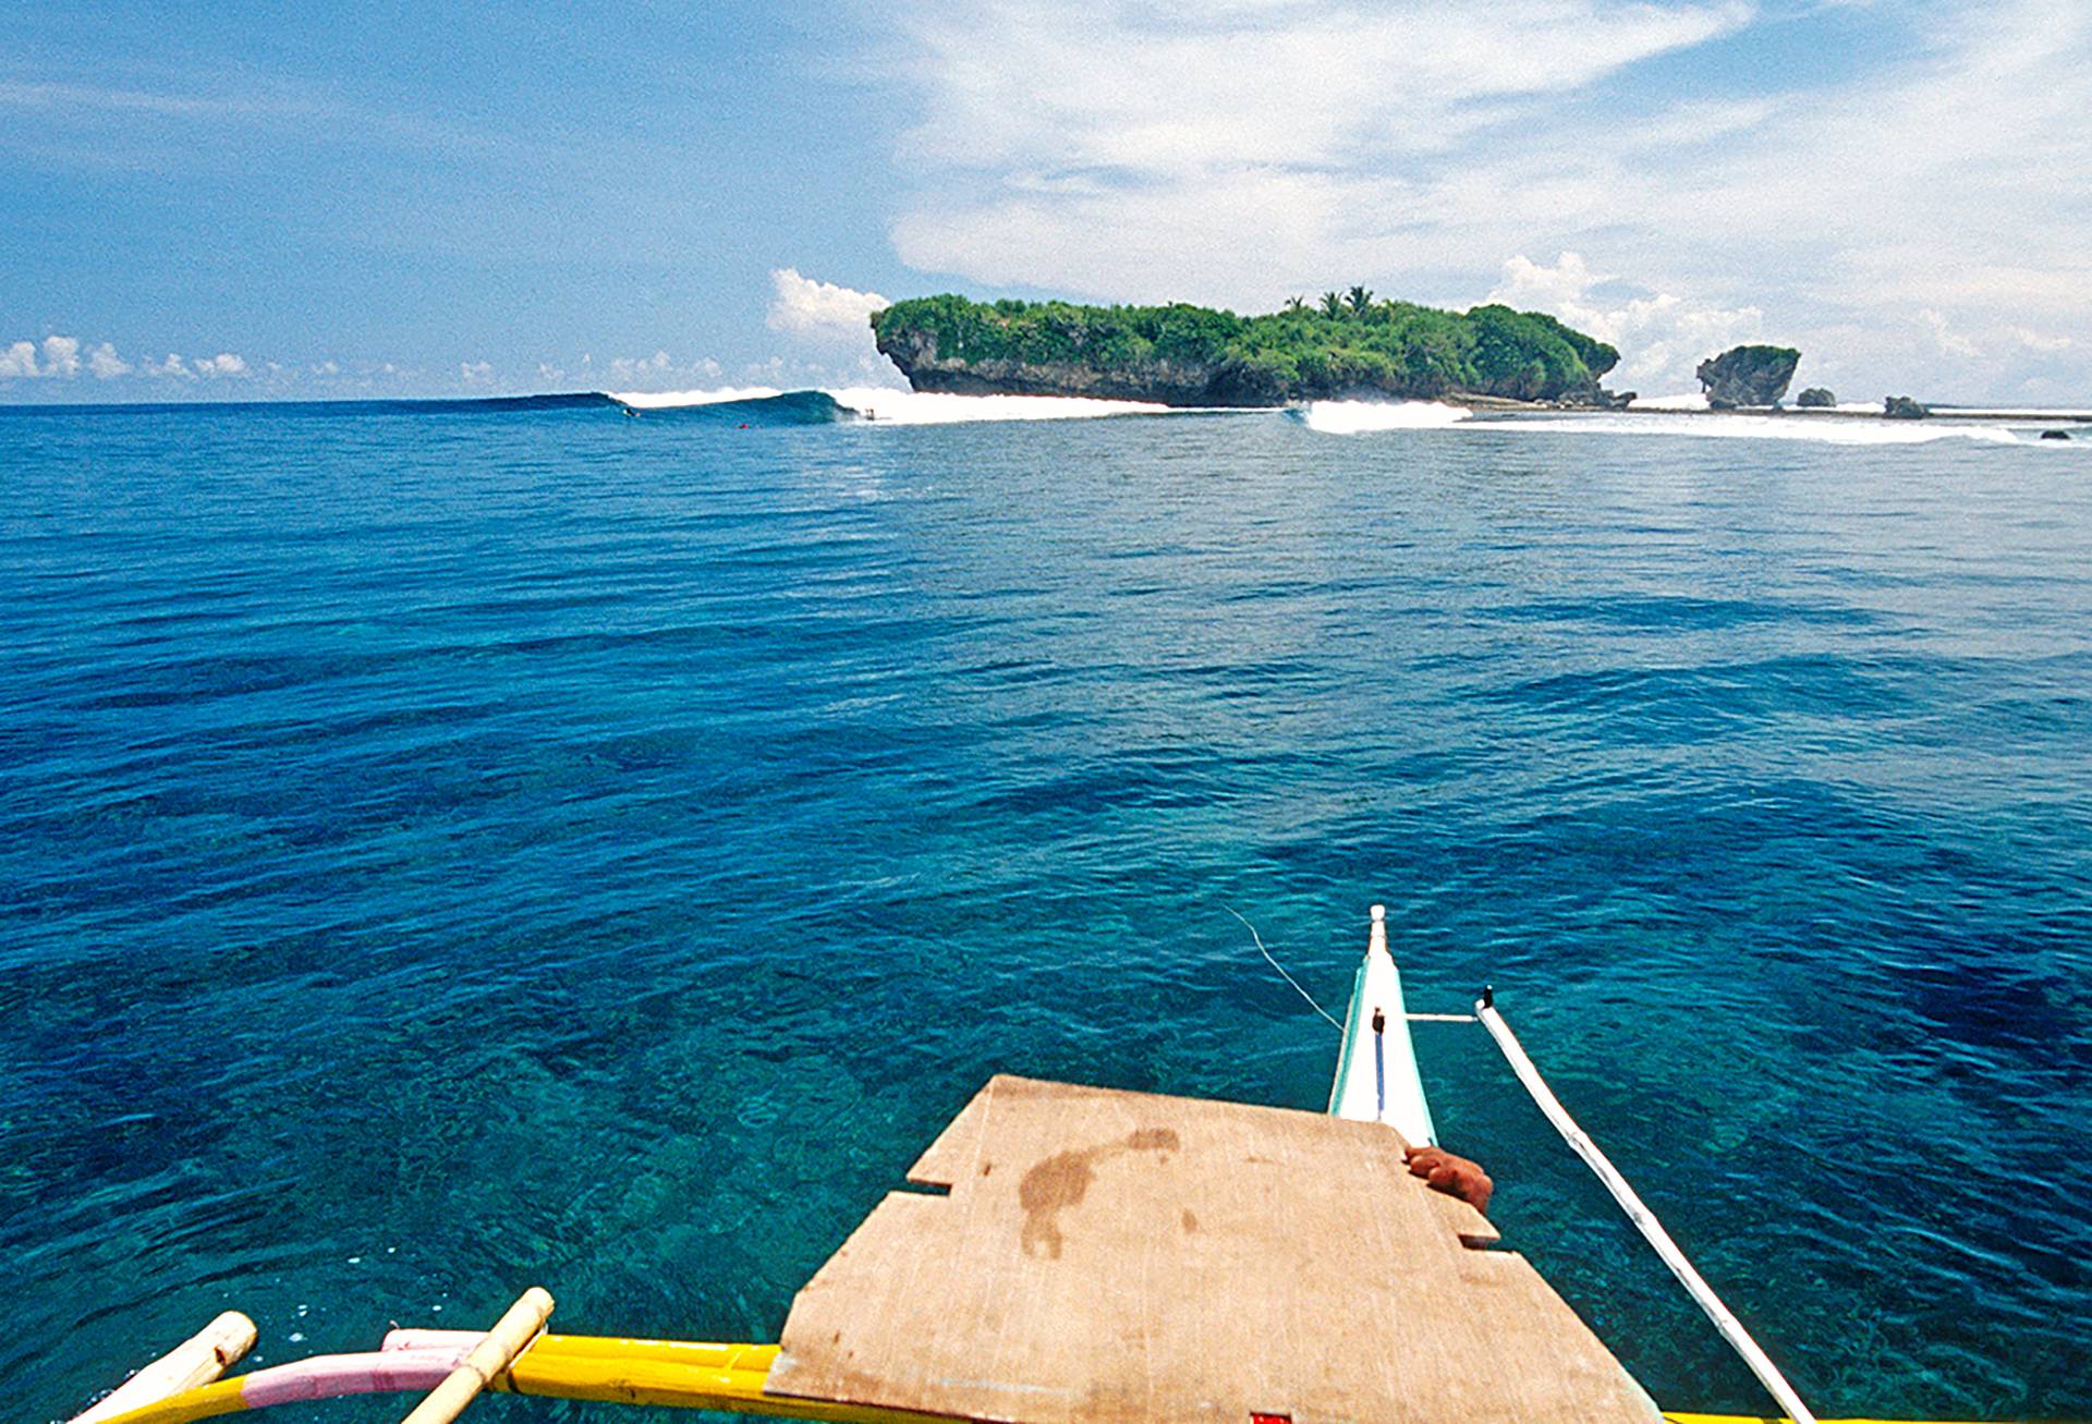
<path id="1" fill-rule="evenodd" d="M 1653 1424 L 1379 1123 L 996 1077 L 805 1284 L 768 1393 L 1006 1424 Z"/>

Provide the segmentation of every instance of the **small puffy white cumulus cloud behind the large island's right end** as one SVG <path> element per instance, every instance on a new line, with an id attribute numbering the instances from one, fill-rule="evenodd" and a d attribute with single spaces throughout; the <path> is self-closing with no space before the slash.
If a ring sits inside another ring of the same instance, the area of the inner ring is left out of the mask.
<path id="1" fill-rule="evenodd" d="M 1695 389 L 1692 370 L 1703 360 L 1764 337 L 1766 318 L 1757 307 L 1722 307 L 1678 293 L 1602 295 L 1623 289 L 1619 278 L 1592 272 L 1577 253 L 1563 253 L 1554 266 L 1513 257 L 1490 301 L 1546 312 L 1609 341 L 1621 362 L 1607 381 L 1644 393 Z"/>

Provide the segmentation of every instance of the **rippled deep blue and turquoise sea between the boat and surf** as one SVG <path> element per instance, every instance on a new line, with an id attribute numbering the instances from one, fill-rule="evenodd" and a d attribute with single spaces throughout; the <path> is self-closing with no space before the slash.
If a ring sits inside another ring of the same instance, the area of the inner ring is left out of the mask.
<path id="1" fill-rule="evenodd" d="M 1818 1409 L 2092 1409 L 2092 441 L 741 420 L 0 414 L 25 1416 L 224 1307 L 774 1338 L 992 1071 L 1320 1108 L 1228 908 L 1341 1012 L 1377 899 Z M 1755 1409 L 1418 1052 L 1506 1244 Z"/>

